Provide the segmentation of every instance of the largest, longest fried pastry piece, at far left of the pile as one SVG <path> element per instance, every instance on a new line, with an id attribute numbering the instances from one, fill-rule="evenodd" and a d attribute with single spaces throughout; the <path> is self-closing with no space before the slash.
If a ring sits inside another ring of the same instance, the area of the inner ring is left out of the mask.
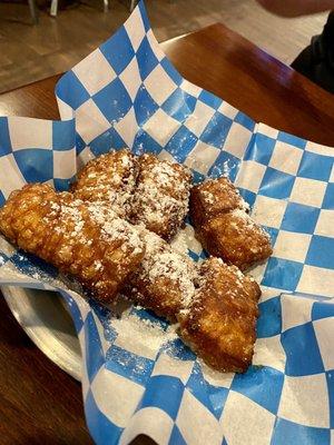
<path id="1" fill-rule="evenodd" d="M 140 264 L 144 244 L 137 229 L 106 211 L 48 185 L 28 185 L 0 209 L 0 231 L 110 303 Z"/>

